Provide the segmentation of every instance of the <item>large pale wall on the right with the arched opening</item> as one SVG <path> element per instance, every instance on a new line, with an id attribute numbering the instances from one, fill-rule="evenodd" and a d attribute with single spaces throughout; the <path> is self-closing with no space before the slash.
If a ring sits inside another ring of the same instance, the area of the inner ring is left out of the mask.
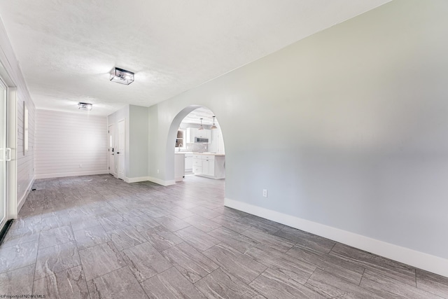
<path id="1" fill-rule="evenodd" d="M 448 276 L 447 11 L 392 1 L 151 106 L 150 176 L 207 106 L 226 204 Z"/>

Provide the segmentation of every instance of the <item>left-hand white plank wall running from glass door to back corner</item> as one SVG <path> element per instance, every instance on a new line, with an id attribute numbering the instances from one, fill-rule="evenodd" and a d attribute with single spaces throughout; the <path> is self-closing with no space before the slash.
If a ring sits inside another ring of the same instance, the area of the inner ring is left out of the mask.
<path id="1" fill-rule="evenodd" d="M 10 180 L 12 183 L 10 188 L 13 189 L 13 193 L 15 194 L 13 194 L 13 198 L 10 198 L 12 203 L 8 210 L 10 217 L 15 217 L 17 216 L 18 209 L 25 202 L 34 181 L 34 118 L 36 108 L 29 95 L 18 60 L 15 58 L 8 35 L 3 27 L 3 22 L 0 22 L 0 63 L 2 64 L 0 69 L 5 71 L 5 74 L 1 75 L 7 81 L 8 87 L 16 88 L 16 91 L 11 94 L 13 98 L 10 97 L 8 99 L 8 105 L 10 106 L 8 109 L 8 118 L 13 118 L 9 125 L 10 127 L 14 127 L 9 137 L 10 140 L 13 140 L 13 144 L 8 145 L 12 148 L 13 157 L 13 163 L 11 164 L 13 165 L 13 169 L 10 169 L 10 173 L 15 172 L 13 179 Z M 26 154 L 23 153 L 22 134 L 24 103 L 27 105 L 29 113 L 29 151 Z"/>

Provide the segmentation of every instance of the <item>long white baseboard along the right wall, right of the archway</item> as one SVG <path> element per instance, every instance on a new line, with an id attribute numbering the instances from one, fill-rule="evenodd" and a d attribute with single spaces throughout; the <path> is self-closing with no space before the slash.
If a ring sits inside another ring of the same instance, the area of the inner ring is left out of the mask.
<path id="1" fill-rule="evenodd" d="M 291 228 L 311 232 L 314 235 L 332 239 L 333 241 L 353 246 L 379 256 L 384 256 L 385 258 L 390 258 L 391 260 L 396 260 L 400 263 L 405 263 L 422 270 L 448 277 L 448 259 L 445 258 L 383 242 L 378 239 L 372 239 L 346 230 L 340 230 L 339 228 L 333 228 L 321 223 L 290 216 L 278 211 L 257 207 L 253 204 L 247 204 L 246 202 L 225 198 L 224 205 L 225 207 L 245 211 L 246 213 L 255 216 L 288 225 Z"/>

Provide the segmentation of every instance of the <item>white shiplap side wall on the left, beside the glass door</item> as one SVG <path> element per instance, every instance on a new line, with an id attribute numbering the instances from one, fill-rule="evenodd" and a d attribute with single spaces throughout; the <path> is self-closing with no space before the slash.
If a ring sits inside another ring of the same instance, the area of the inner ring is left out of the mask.
<path id="1" fill-rule="evenodd" d="M 17 160 L 17 201 L 18 209 L 25 202 L 27 194 L 31 189 L 34 181 L 34 118 L 35 110 L 34 102 L 29 95 L 25 78 L 23 78 L 22 71 L 18 60 L 15 57 L 13 48 L 3 27 L 3 22 L 0 22 L 0 62 L 7 72 L 9 80 L 12 82 L 8 84 L 10 87 L 17 88 L 17 99 L 8 99 L 8 104 L 17 105 L 17 144 L 8 144 L 13 150 L 12 156 Z M 3 78 L 6 80 L 6 78 Z M 29 125 L 29 151 L 24 155 L 23 153 L 23 103 L 27 105 L 28 109 L 28 125 Z M 10 117 L 10 116 L 8 116 Z M 16 214 L 16 213 L 13 213 Z"/>

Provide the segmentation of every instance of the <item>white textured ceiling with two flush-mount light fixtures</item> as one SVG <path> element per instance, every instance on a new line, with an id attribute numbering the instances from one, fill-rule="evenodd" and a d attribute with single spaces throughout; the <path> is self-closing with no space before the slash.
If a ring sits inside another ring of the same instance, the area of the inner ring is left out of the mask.
<path id="1" fill-rule="evenodd" d="M 0 0 L 38 109 L 151 106 L 389 0 Z M 109 81 L 120 67 L 131 85 Z"/>

